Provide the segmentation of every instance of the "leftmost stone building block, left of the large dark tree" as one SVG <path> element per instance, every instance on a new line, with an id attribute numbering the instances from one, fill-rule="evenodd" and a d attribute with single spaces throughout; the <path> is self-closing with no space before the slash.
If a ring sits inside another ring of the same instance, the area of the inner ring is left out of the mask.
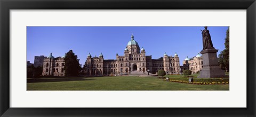
<path id="1" fill-rule="evenodd" d="M 65 76 L 65 56 L 54 58 L 52 53 L 43 60 L 43 76 Z"/>

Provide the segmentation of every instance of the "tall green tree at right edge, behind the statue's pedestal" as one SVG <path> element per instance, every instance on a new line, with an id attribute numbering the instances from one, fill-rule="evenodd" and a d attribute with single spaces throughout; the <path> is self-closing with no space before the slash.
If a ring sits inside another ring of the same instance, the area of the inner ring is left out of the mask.
<path id="1" fill-rule="evenodd" d="M 229 71 L 229 28 L 226 32 L 225 49 L 220 52 L 218 62 L 221 69 L 225 69 L 226 72 Z"/>

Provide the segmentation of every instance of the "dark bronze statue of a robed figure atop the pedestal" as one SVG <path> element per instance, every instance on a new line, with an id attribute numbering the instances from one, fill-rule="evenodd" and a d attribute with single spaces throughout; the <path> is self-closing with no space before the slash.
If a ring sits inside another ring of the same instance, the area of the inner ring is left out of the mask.
<path id="1" fill-rule="evenodd" d="M 212 44 L 211 35 L 209 33 L 209 30 L 207 30 L 207 26 L 204 26 L 204 30 L 202 31 L 202 35 L 203 35 L 203 50 L 205 50 L 207 48 L 214 48 L 213 44 Z"/>

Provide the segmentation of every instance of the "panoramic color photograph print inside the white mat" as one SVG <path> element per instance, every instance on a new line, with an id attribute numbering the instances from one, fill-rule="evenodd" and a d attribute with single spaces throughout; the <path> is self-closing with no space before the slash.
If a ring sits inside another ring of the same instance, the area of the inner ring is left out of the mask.
<path id="1" fill-rule="evenodd" d="M 229 26 L 27 26 L 27 91 L 229 91 Z"/>

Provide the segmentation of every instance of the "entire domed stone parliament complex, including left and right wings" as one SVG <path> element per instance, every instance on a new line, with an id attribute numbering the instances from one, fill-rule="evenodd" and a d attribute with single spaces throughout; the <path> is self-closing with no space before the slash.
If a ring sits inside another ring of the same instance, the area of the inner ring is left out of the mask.
<path id="1" fill-rule="evenodd" d="M 52 53 L 49 57 L 43 59 L 43 76 L 65 76 L 65 56 L 54 58 Z M 99 57 L 87 55 L 85 61 L 84 75 L 129 75 L 129 74 L 156 74 L 158 70 L 165 70 L 166 74 L 180 74 L 189 69 L 193 74 L 202 69 L 202 55 L 198 53 L 193 58 L 185 58 L 183 66 L 180 66 L 180 60 L 177 53 L 174 56 L 168 56 L 164 53 L 163 57 L 152 59 L 151 55 L 146 55 L 146 50 L 140 49 L 139 43 L 134 40 L 133 34 L 131 40 L 124 49 L 124 56 L 116 54 L 116 59 L 104 59 L 102 53 Z"/>

